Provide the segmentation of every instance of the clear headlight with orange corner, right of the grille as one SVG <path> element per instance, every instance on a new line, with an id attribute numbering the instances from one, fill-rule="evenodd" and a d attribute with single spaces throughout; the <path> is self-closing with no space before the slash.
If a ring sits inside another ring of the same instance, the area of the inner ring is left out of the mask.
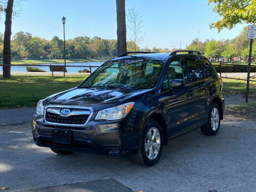
<path id="1" fill-rule="evenodd" d="M 124 118 L 132 109 L 134 102 L 125 103 L 116 107 L 111 107 L 98 111 L 95 120 L 106 119 L 106 120 L 118 120 Z"/>

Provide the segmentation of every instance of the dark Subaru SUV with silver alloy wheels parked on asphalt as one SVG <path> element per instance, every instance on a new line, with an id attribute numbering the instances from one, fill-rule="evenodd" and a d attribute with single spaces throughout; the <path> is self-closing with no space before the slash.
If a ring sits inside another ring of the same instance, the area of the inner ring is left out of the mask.
<path id="1" fill-rule="evenodd" d="M 169 139 L 197 128 L 217 134 L 223 108 L 222 79 L 201 53 L 128 52 L 39 101 L 32 133 L 37 146 L 57 154 L 130 153 L 150 166 Z"/>

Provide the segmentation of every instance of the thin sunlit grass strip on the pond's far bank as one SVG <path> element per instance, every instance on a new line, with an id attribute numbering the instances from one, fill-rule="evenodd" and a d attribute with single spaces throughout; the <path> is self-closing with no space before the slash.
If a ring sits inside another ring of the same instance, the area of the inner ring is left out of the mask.
<path id="1" fill-rule="evenodd" d="M 93 61 L 107 61 L 108 59 L 66 59 L 67 63 L 71 62 L 93 62 Z M 22 64 L 46 64 L 46 63 L 63 63 L 64 59 L 43 59 L 43 60 L 15 60 L 12 61 L 12 65 L 22 65 Z M 0 61 L 3 64 L 3 61 Z"/>

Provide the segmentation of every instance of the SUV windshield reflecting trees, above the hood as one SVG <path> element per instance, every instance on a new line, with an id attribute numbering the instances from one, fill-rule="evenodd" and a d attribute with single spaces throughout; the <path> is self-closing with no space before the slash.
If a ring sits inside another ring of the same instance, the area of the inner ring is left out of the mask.
<path id="1" fill-rule="evenodd" d="M 163 63 L 141 59 L 107 61 L 79 87 L 116 86 L 132 89 L 155 87 Z"/>

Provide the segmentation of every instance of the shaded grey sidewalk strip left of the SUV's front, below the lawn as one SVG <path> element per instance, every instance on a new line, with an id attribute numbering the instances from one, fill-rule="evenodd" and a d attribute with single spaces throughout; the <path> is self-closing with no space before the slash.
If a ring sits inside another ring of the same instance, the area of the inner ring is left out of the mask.
<path id="1" fill-rule="evenodd" d="M 35 114 L 35 111 L 35 107 L 2 109 L 0 110 L 0 126 L 29 122 Z"/>

